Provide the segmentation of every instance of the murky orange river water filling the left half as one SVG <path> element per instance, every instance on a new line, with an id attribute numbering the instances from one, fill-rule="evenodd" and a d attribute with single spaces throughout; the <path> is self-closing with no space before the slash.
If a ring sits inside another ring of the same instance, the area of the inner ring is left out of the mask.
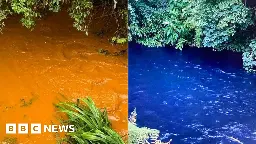
<path id="1" fill-rule="evenodd" d="M 98 53 L 127 47 L 111 45 L 111 32 L 97 36 L 104 25 L 93 22 L 85 36 L 72 27 L 66 13 L 39 20 L 32 32 L 17 18 L 6 22 L 0 35 L 0 142 L 10 136 L 6 123 L 57 123 L 53 103 L 59 93 L 74 101 L 91 96 L 98 107 L 107 108 L 113 128 L 127 133 L 127 55 Z M 12 135 L 23 144 L 54 144 L 55 136 Z"/>

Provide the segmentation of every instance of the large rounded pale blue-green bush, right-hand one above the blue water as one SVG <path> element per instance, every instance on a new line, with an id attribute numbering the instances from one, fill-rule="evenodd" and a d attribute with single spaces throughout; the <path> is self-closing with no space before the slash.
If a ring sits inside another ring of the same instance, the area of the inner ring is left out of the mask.
<path id="1" fill-rule="evenodd" d="M 250 9 L 240 0 L 224 0 L 212 4 L 207 0 L 190 2 L 185 10 L 186 22 L 200 29 L 202 46 L 225 48 L 237 30 L 245 30 L 253 24 Z"/>

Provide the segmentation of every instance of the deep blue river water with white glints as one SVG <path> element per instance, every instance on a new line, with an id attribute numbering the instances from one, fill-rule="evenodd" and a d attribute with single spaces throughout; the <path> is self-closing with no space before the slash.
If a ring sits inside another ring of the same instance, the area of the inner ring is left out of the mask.
<path id="1" fill-rule="evenodd" d="M 173 144 L 256 144 L 256 75 L 241 54 L 129 45 L 129 112 Z"/>

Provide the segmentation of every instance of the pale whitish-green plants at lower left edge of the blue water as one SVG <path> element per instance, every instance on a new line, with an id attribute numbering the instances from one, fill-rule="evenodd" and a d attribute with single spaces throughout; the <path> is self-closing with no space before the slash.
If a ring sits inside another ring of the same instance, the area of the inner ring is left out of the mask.
<path id="1" fill-rule="evenodd" d="M 150 129 L 147 127 L 138 127 L 136 125 L 137 113 L 136 109 L 131 113 L 128 122 L 129 129 L 129 144 L 170 144 L 172 140 L 167 143 L 159 140 L 160 131 L 157 129 Z"/>

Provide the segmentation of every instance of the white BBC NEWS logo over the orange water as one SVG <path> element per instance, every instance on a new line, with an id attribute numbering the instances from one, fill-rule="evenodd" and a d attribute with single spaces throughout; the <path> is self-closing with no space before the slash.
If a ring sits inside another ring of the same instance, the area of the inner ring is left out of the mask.
<path id="1" fill-rule="evenodd" d="M 40 123 L 7 123 L 6 134 L 41 134 L 57 132 L 75 132 L 74 125 L 42 125 Z"/>

